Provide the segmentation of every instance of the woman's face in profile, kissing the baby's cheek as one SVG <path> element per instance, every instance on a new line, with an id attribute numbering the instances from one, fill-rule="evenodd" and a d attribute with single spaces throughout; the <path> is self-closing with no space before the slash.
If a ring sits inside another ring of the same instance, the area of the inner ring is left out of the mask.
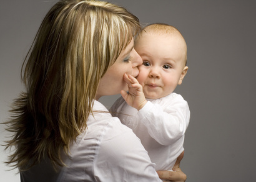
<path id="1" fill-rule="evenodd" d="M 101 98 L 101 96 L 120 94 L 121 90 L 127 91 L 127 83 L 123 79 L 124 74 L 127 73 L 127 75 L 137 77 L 139 75 L 137 66 L 141 64 L 142 59 L 134 50 L 134 40 L 132 39 L 129 45 L 117 57 L 116 62 L 101 78 L 96 99 Z"/>

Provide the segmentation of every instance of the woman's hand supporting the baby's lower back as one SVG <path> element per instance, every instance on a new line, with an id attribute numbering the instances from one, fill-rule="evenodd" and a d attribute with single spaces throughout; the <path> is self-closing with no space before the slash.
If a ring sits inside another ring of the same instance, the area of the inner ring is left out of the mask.
<path id="1" fill-rule="evenodd" d="M 183 157 L 184 151 L 177 158 L 176 163 L 172 168 L 174 171 L 157 171 L 159 178 L 167 181 L 185 182 L 185 180 L 187 180 L 187 175 L 185 175 L 185 173 L 180 169 L 180 161 Z"/>

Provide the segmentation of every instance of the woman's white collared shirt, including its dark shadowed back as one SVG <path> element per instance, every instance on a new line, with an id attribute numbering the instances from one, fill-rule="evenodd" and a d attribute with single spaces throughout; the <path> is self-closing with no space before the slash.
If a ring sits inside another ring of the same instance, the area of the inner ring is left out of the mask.
<path id="1" fill-rule="evenodd" d="M 88 129 L 71 145 L 70 157 L 63 158 L 67 167 L 56 173 L 46 159 L 21 172 L 21 181 L 161 181 L 132 130 L 100 102 L 95 101 L 93 109 L 105 113 L 89 117 Z"/>

